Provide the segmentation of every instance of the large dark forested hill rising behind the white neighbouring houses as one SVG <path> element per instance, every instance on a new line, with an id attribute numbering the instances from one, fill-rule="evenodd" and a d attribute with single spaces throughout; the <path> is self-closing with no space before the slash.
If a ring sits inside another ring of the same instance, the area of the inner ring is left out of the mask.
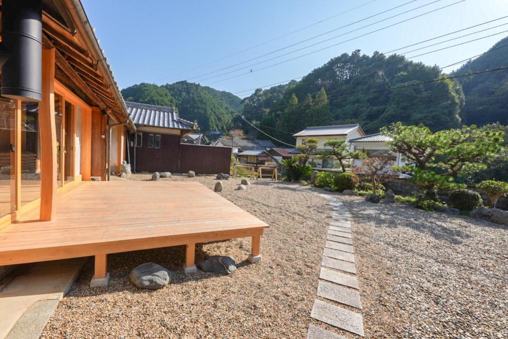
<path id="1" fill-rule="evenodd" d="M 358 122 L 366 133 L 375 133 L 379 127 L 396 121 L 424 123 L 432 129 L 456 127 L 464 105 L 464 95 L 456 81 L 383 90 L 441 75 L 438 66 L 408 61 L 400 55 L 376 52 L 368 56 L 357 50 L 313 70 L 285 88 L 276 100 L 267 102 L 266 91 L 257 90 L 242 103 L 245 116 L 260 121 L 287 142 L 294 138 L 280 130 L 297 132 L 309 125 Z M 369 93 L 361 94 L 365 92 Z"/>

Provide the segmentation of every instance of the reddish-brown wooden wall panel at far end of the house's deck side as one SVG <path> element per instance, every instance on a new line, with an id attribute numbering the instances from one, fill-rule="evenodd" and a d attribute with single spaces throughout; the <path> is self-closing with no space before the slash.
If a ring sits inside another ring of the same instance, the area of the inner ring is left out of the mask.
<path id="1" fill-rule="evenodd" d="M 91 176 L 106 180 L 106 116 L 92 107 Z"/>

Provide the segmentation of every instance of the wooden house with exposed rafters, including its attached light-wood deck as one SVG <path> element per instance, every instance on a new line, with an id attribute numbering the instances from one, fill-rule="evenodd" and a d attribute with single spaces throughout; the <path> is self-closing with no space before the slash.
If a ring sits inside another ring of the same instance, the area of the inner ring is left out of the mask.
<path id="1" fill-rule="evenodd" d="M 90 181 L 137 128 L 79 0 L 4 0 L 0 21 L 0 266 L 94 256 L 104 286 L 110 253 L 184 245 L 190 273 L 196 243 L 250 237 L 261 259 L 268 225 L 197 182 Z"/>

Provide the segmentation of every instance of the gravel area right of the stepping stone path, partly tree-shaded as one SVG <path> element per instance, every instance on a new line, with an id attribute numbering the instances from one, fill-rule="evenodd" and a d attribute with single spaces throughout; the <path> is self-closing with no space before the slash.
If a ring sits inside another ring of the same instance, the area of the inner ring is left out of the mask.
<path id="1" fill-rule="evenodd" d="M 339 198 L 352 214 L 368 337 L 508 337 L 508 227 Z"/>

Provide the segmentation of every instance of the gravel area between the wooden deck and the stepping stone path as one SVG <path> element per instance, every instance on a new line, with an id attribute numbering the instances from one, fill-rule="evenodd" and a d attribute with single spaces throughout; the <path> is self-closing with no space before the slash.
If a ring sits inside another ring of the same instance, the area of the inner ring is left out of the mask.
<path id="1" fill-rule="evenodd" d="M 196 180 L 210 189 L 216 182 L 211 176 L 161 180 Z M 238 269 L 229 276 L 185 276 L 183 246 L 113 254 L 108 256 L 109 286 L 91 289 L 89 261 L 42 337 L 305 337 L 331 209 L 315 194 L 258 184 L 236 191 L 239 182 L 223 180 L 221 194 L 270 224 L 260 263 L 246 261 L 250 239 L 196 247 L 196 260 L 234 257 Z M 130 283 L 131 270 L 149 261 L 173 271 L 169 286 L 148 291 Z"/>

